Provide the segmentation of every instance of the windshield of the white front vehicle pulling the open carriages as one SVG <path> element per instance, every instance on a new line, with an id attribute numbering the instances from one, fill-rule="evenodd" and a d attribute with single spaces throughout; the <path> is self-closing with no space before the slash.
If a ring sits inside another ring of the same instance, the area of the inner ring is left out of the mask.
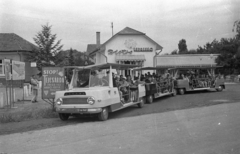
<path id="1" fill-rule="evenodd" d="M 90 69 L 74 70 L 71 83 L 73 88 L 109 86 L 109 71 Z"/>

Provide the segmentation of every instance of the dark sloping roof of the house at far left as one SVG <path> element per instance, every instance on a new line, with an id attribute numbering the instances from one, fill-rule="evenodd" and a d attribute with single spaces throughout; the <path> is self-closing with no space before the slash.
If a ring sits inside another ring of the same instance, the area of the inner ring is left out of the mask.
<path id="1" fill-rule="evenodd" d="M 32 51 L 35 45 L 14 33 L 0 33 L 0 52 Z"/>

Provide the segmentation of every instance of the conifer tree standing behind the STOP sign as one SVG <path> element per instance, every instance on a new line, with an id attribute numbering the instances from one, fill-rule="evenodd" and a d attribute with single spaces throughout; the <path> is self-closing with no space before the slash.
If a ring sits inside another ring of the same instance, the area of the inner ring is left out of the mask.
<path id="1" fill-rule="evenodd" d="M 36 62 L 39 71 L 44 66 L 56 65 L 58 52 L 63 47 L 61 40 L 56 41 L 57 35 L 51 33 L 51 28 L 48 24 L 42 25 L 42 30 L 33 38 L 38 48 L 29 54 L 28 60 Z"/>

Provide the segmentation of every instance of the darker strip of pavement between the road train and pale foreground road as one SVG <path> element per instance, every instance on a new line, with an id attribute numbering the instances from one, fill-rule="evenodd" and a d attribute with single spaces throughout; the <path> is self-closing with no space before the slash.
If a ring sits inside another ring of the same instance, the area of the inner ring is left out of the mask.
<path id="1" fill-rule="evenodd" d="M 195 92 L 175 97 L 163 97 L 156 99 L 153 104 L 146 104 L 144 108 L 137 106 L 126 108 L 110 114 L 110 119 L 119 119 L 152 113 L 166 113 L 169 111 L 200 108 L 217 104 L 229 104 L 240 102 L 240 84 L 227 84 L 226 90 L 222 92 Z M 46 129 L 50 127 L 62 127 L 66 125 L 77 125 L 81 123 L 98 122 L 97 118 L 71 118 L 67 122 L 62 122 L 59 118 L 37 119 L 25 122 L 14 122 L 0 125 L 0 135 L 17 132 L 27 132 L 31 130 Z"/>

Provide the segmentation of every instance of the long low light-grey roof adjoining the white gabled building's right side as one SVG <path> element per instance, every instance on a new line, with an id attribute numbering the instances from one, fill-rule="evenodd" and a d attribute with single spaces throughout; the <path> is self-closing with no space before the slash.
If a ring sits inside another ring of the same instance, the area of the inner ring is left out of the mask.
<path id="1" fill-rule="evenodd" d="M 207 67 L 216 66 L 218 54 L 163 55 L 156 57 L 156 67 Z"/>

